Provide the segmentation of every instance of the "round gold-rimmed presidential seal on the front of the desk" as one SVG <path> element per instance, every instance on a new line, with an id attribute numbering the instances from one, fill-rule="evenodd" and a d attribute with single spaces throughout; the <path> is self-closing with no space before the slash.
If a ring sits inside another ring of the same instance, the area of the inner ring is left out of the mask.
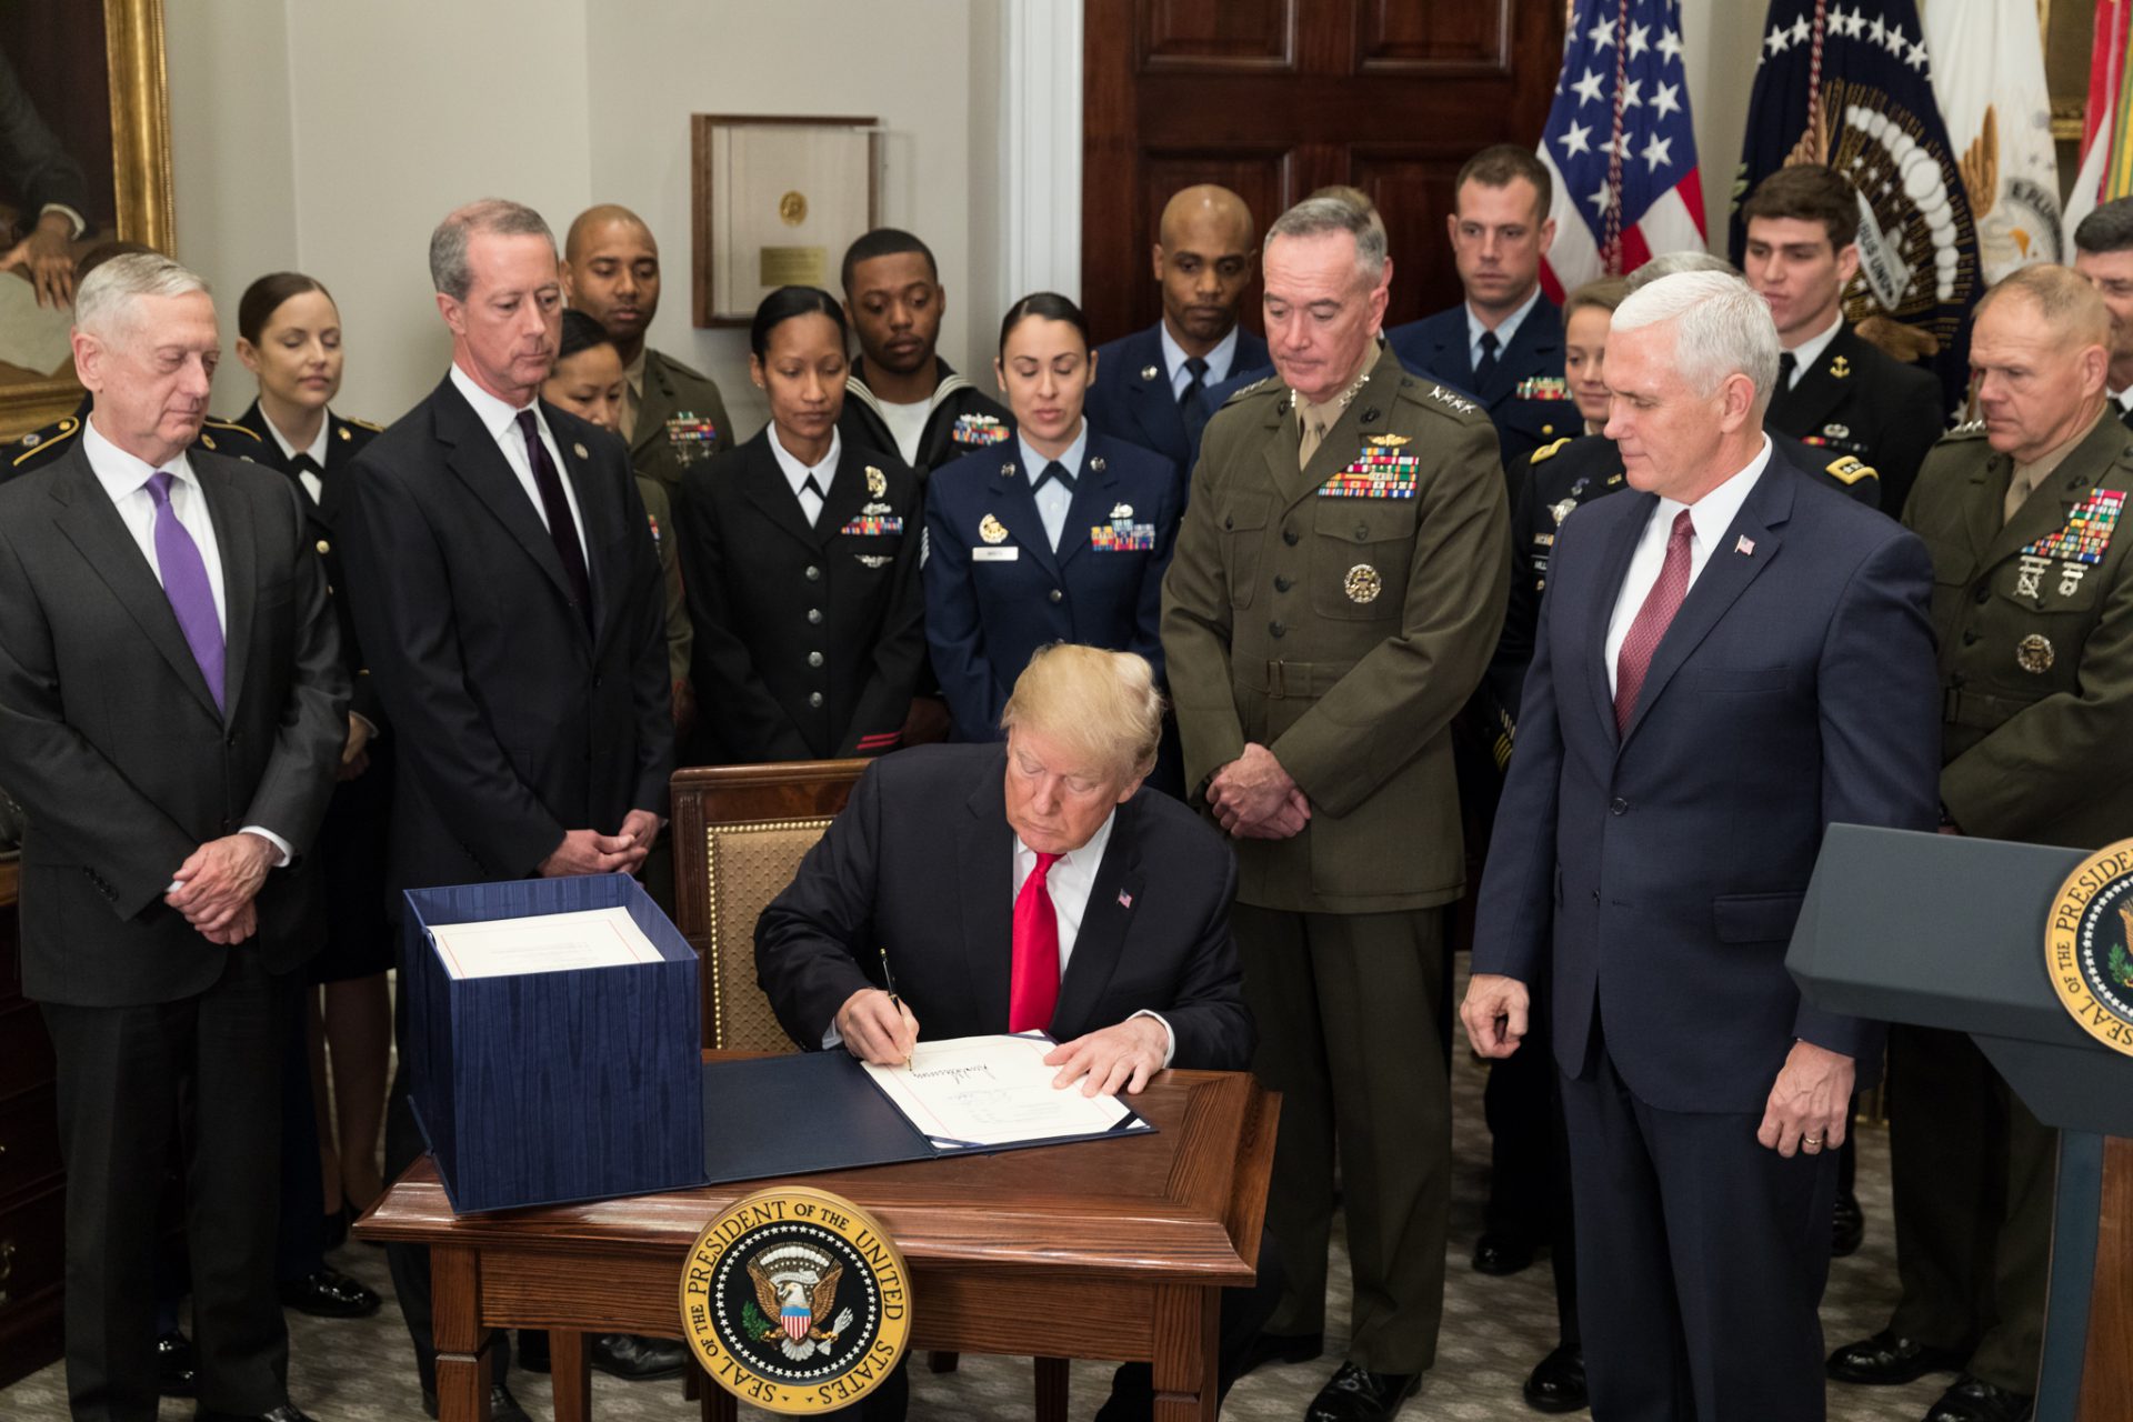
<path id="1" fill-rule="evenodd" d="M 704 1226 L 680 1281 L 683 1337 L 712 1381 L 770 1411 L 849 1407 L 911 1337 L 911 1275 L 887 1230 L 823 1190 L 781 1185 Z"/>

